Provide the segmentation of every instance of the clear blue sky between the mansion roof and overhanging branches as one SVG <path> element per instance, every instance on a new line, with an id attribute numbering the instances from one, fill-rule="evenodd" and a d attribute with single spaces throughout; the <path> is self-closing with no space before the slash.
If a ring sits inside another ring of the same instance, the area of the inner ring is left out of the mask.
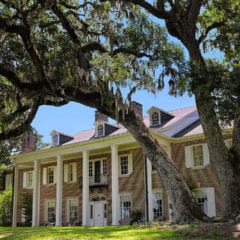
<path id="1" fill-rule="evenodd" d="M 169 96 L 167 90 L 156 95 L 146 92 L 136 92 L 133 100 L 143 105 L 143 115 L 147 115 L 150 107 L 156 106 L 163 110 L 170 111 L 187 106 L 195 105 L 193 97 Z M 65 106 L 41 106 L 32 123 L 32 126 L 43 136 L 44 142 L 51 142 L 50 133 L 57 130 L 67 134 L 74 134 L 82 130 L 94 127 L 95 109 L 86 107 L 79 103 L 71 102 Z"/>

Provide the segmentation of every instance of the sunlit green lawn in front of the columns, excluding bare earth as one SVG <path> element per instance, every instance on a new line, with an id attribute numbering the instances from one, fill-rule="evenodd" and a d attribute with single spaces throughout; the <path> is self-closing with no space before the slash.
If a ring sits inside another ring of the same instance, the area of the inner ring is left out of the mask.
<path id="1" fill-rule="evenodd" d="M 157 227 L 140 228 L 137 226 L 108 227 L 0 227 L 0 239 L 172 239 L 179 237 L 173 231 L 159 231 Z"/>

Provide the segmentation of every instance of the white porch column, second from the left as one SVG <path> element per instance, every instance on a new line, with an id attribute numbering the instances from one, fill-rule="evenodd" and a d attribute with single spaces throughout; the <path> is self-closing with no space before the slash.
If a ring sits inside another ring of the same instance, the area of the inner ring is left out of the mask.
<path id="1" fill-rule="evenodd" d="M 39 226 L 39 202 L 40 202 L 40 161 L 34 160 L 33 171 L 33 202 L 32 202 L 32 226 Z"/>

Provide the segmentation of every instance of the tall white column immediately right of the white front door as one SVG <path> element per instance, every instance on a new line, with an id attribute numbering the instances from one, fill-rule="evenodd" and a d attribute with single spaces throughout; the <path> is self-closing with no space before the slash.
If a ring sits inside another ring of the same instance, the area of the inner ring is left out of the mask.
<path id="1" fill-rule="evenodd" d="M 118 187 L 118 146 L 111 146 L 112 157 L 112 225 L 119 225 L 120 198 Z"/>

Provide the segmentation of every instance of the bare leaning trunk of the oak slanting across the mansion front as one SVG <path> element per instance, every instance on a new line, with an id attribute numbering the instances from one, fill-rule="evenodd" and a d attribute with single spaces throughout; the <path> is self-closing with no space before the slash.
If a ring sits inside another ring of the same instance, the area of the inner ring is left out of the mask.
<path id="1" fill-rule="evenodd" d="M 102 111 L 107 113 L 107 115 L 112 115 L 106 108 L 102 109 Z M 165 150 L 153 138 L 142 119 L 136 117 L 132 111 L 128 111 L 128 114 L 124 118 L 120 118 L 119 122 L 128 129 L 157 169 L 171 201 L 173 210 L 172 221 L 183 224 L 192 222 L 195 219 L 206 220 L 206 215 L 194 201 L 183 176 L 176 169 L 174 162 L 169 158 Z"/>

